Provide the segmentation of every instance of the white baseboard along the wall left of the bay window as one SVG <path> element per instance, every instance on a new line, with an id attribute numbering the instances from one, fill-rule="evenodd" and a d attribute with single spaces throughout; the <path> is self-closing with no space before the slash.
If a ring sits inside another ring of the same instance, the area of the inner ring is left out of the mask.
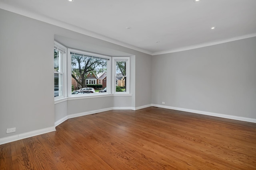
<path id="1" fill-rule="evenodd" d="M 49 133 L 49 132 L 52 132 L 52 131 L 56 131 L 55 127 L 48 127 L 48 128 L 39 129 L 39 130 L 36 130 L 36 131 L 21 133 L 21 134 L 18 134 L 18 135 L 13 135 L 13 136 L 10 136 L 10 137 L 4 137 L 4 138 L 0 139 L 0 145 L 5 144 L 5 143 L 10 143 L 10 142 L 13 142 L 13 141 L 18 141 L 20 139 L 25 139 L 25 138 L 28 138 L 28 137 L 33 137 L 33 136 L 36 136 L 36 135 L 42 135 L 44 133 Z"/>

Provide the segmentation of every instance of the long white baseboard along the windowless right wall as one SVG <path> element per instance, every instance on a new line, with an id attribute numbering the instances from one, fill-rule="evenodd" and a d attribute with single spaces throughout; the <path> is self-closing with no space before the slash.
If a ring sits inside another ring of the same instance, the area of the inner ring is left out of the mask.
<path id="1" fill-rule="evenodd" d="M 222 118 L 226 118 L 226 119 L 234 119 L 234 120 L 240 120 L 240 121 L 247 121 L 247 122 L 256 123 L 256 119 L 252 119 L 252 118 L 248 118 L 248 117 L 225 115 L 225 114 L 220 114 L 220 113 L 212 113 L 212 112 L 208 112 L 208 111 L 184 109 L 184 108 L 179 108 L 179 107 L 163 106 L 163 105 L 158 105 L 158 104 L 152 104 L 151 106 L 162 107 L 162 108 L 165 108 L 165 109 L 187 111 L 187 112 L 191 112 L 191 113 L 198 113 L 198 114 L 208 115 L 208 116 L 222 117 Z"/>

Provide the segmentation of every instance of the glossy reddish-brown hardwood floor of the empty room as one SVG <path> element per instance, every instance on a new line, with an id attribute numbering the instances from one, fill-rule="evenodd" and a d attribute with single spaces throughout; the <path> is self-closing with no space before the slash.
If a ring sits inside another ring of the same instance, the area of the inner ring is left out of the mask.
<path id="1" fill-rule="evenodd" d="M 255 170 L 256 123 L 148 107 L 0 145 L 0 170 Z"/>

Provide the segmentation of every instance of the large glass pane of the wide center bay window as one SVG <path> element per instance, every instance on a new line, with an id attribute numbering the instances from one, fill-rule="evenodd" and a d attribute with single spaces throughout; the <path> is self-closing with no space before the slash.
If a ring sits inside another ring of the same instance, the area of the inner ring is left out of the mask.
<path id="1" fill-rule="evenodd" d="M 72 86 L 80 87 L 78 88 L 78 91 L 86 91 L 87 89 L 84 88 L 94 87 L 94 90 L 91 89 L 92 93 L 98 93 L 100 90 L 102 90 L 102 87 L 92 86 L 92 84 L 97 84 L 98 82 L 100 84 L 100 81 L 98 80 L 107 78 L 104 75 L 106 75 L 107 72 L 108 60 L 99 57 L 92 57 L 85 54 L 77 54 L 73 52 L 70 52 L 70 54 Z M 106 82 L 106 80 L 104 80 L 104 82 Z M 85 92 L 82 94 L 88 93 L 90 92 Z M 75 93 L 72 92 L 72 94 Z"/>

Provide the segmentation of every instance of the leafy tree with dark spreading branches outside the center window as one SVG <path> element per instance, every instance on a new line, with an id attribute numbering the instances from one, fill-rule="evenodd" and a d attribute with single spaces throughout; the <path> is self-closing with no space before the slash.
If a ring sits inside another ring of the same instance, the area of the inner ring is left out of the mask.
<path id="1" fill-rule="evenodd" d="M 90 56 L 72 55 L 71 61 L 71 75 L 82 88 L 86 87 L 85 79 L 89 72 L 96 73 L 97 70 L 106 68 L 105 60 L 92 58 Z"/>

